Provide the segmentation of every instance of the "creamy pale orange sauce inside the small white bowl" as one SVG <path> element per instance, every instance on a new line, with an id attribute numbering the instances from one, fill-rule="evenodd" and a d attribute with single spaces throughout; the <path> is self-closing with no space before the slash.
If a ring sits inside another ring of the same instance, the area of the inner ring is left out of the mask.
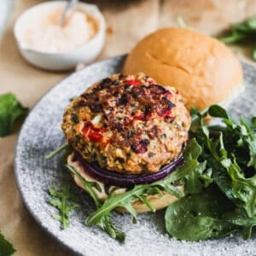
<path id="1" fill-rule="evenodd" d="M 95 36 L 96 20 L 90 15 L 79 10 L 70 11 L 60 26 L 62 12 L 62 8 L 55 8 L 31 16 L 22 33 L 26 47 L 57 53 L 75 49 Z"/>

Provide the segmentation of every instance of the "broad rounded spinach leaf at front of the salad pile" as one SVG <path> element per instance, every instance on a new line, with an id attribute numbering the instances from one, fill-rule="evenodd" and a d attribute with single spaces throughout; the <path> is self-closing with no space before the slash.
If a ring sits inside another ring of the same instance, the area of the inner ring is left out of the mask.
<path id="1" fill-rule="evenodd" d="M 200 241 L 226 236 L 238 225 L 223 218 L 234 206 L 218 189 L 211 187 L 200 194 L 188 195 L 166 209 L 166 230 L 177 239 Z"/>

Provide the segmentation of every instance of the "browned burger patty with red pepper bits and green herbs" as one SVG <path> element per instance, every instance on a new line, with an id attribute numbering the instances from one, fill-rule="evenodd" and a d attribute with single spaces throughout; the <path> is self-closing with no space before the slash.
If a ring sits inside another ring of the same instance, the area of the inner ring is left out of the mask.
<path id="1" fill-rule="evenodd" d="M 177 90 L 139 73 L 114 74 L 90 86 L 67 107 L 61 127 L 84 160 L 139 174 L 176 160 L 189 125 Z"/>

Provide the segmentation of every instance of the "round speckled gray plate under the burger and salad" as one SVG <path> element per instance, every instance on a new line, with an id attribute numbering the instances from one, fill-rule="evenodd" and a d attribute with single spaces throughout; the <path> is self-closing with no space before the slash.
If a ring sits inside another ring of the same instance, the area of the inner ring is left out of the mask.
<path id="1" fill-rule="evenodd" d="M 243 241 L 238 235 L 201 242 L 172 239 L 165 233 L 163 211 L 141 214 L 137 224 L 132 224 L 129 214 L 114 215 L 114 224 L 126 233 L 125 244 L 114 241 L 96 227 L 84 226 L 93 204 L 73 184 L 63 168 L 61 155 L 51 160 L 45 160 L 44 156 L 64 143 L 60 124 L 70 98 L 79 96 L 99 79 L 119 73 L 124 60 L 125 56 L 114 57 L 73 73 L 50 90 L 27 117 L 17 143 L 15 172 L 20 194 L 32 216 L 63 246 L 81 255 L 256 255 L 255 240 Z M 243 68 L 247 89 L 232 103 L 236 117 L 241 113 L 256 113 L 256 69 L 246 63 Z M 61 230 L 59 222 L 51 217 L 55 208 L 47 203 L 47 189 L 59 188 L 63 182 L 70 182 L 73 193 L 81 200 L 67 230 Z"/>

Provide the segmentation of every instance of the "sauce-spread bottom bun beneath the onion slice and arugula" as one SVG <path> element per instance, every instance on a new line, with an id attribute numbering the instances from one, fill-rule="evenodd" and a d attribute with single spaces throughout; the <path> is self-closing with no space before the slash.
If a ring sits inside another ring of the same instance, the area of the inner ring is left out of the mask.
<path id="1" fill-rule="evenodd" d="M 84 166 L 82 166 L 82 164 L 79 162 L 79 160 L 75 160 L 74 154 L 68 155 L 67 164 L 70 166 L 73 166 L 76 169 L 76 171 L 79 172 L 79 174 L 82 177 L 84 177 L 85 180 L 90 181 L 90 182 L 97 182 L 100 185 L 102 192 L 99 192 L 96 189 L 95 189 L 95 192 L 101 201 L 104 201 L 107 198 L 108 195 L 104 192 L 104 184 L 99 181 L 96 181 L 93 177 L 90 177 L 90 175 L 87 172 L 85 172 Z M 77 185 L 81 189 L 84 189 L 83 184 L 80 182 L 79 178 L 74 175 L 72 175 L 72 176 L 73 176 L 75 183 L 77 183 Z M 110 190 L 111 189 L 112 188 L 110 187 Z M 182 189 L 182 188 L 180 188 L 180 189 Z M 124 192 L 125 192 L 125 188 L 115 190 L 113 192 L 113 194 L 119 195 Z M 163 192 L 162 195 L 160 195 L 160 194 L 148 195 L 147 199 L 148 199 L 149 203 L 154 207 L 155 210 L 160 210 L 160 209 L 166 208 L 173 201 L 177 201 L 177 197 L 167 194 L 166 192 Z M 133 201 L 131 203 L 131 205 L 132 205 L 132 207 L 135 208 L 135 210 L 137 212 L 150 212 L 151 211 L 142 201 L 139 201 L 139 200 Z M 121 212 L 125 212 L 125 208 L 119 207 L 117 210 L 119 210 Z"/>

